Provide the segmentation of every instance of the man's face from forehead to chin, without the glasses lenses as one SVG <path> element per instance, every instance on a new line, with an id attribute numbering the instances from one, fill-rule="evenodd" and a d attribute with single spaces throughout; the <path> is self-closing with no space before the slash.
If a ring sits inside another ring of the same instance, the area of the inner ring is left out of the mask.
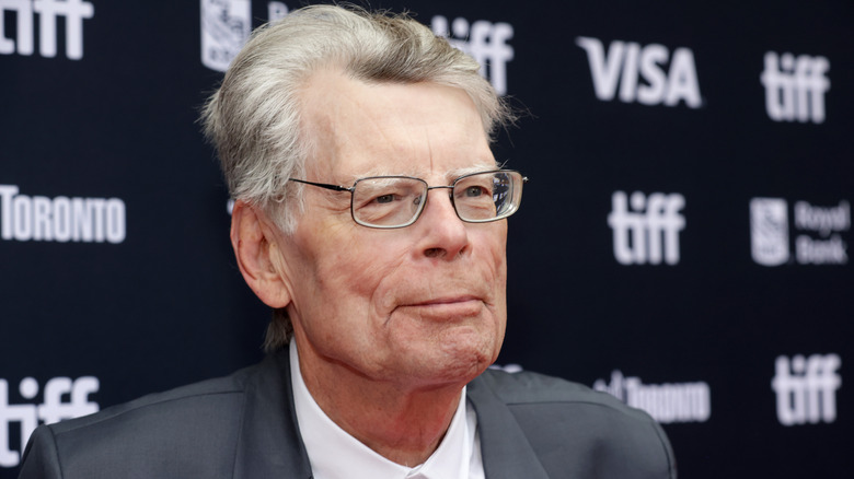
<path id="1" fill-rule="evenodd" d="M 309 180 L 407 175 L 436 186 L 495 168 L 481 117 L 459 89 L 367 84 L 335 72 L 309 84 Z M 307 186 L 304 198 L 297 230 L 277 242 L 301 361 L 414 387 L 468 382 L 495 361 L 506 322 L 506 221 L 463 223 L 447 189 L 431 190 L 418 221 L 397 230 L 356 224 L 347 192 Z"/>

